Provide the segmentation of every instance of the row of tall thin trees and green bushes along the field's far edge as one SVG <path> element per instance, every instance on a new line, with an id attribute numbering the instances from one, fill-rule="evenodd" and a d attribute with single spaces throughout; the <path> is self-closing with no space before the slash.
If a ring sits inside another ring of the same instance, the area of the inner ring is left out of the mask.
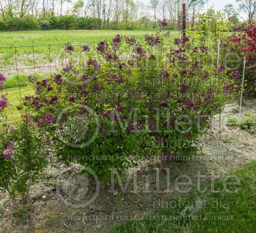
<path id="1" fill-rule="evenodd" d="M 186 3 L 187 14 L 194 15 L 206 1 L 150 0 L 145 5 L 140 0 L 0 0 L 0 29 L 155 29 L 157 21 L 163 18 L 167 19 L 169 29 L 176 29 L 181 23 L 182 3 Z M 236 2 L 239 9 L 232 4 L 223 9 L 230 23 L 237 23 L 241 11 L 253 20 L 256 0 Z"/>

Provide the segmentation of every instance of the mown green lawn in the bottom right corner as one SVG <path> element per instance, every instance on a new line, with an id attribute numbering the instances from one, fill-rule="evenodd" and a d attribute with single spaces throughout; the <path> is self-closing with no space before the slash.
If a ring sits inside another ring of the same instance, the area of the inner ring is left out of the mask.
<path id="1" fill-rule="evenodd" d="M 154 215 L 182 215 L 190 216 L 188 220 L 145 220 L 123 222 L 116 229 L 109 232 L 255 232 L 256 229 L 256 161 L 253 161 L 238 170 L 236 175 L 241 180 L 241 186 L 238 192 L 228 194 L 223 190 L 223 183 L 219 181 L 215 185 L 215 190 L 220 188 L 220 193 L 207 192 L 201 195 L 194 194 L 182 199 L 193 203 L 195 200 L 209 200 L 210 203 L 217 200 L 219 203 L 228 203 L 218 208 L 166 208 Z M 214 221 L 211 216 L 234 216 L 233 221 Z M 198 220 L 192 220 L 192 216 L 198 216 Z M 201 217 L 199 217 L 201 216 Z M 200 219 L 201 218 L 201 219 Z"/>

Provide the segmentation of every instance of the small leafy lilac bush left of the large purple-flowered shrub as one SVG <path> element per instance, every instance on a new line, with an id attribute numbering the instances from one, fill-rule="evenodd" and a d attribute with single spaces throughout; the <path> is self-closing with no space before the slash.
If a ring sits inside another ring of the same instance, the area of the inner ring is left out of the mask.
<path id="1" fill-rule="evenodd" d="M 47 164 L 42 144 L 44 135 L 31 123 L 23 121 L 14 127 L 5 127 L 0 134 L 0 191 L 8 192 L 14 211 L 28 204 L 30 186 Z M 21 202 L 16 200 L 17 196 Z"/>

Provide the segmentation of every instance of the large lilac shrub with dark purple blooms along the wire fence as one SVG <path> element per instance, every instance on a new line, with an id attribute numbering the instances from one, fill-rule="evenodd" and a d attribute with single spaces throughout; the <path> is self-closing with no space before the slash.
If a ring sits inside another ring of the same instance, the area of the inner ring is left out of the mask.
<path id="1" fill-rule="evenodd" d="M 234 82 L 209 63 L 200 41 L 193 46 L 183 37 L 167 48 L 166 21 L 160 26 L 161 32 L 145 35 L 143 42 L 118 34 L 99 42 L 97 54 L 69 59 L 24 98 L 22 111 L 51 137 L 59 161 L 89 166 L 107 182 L 111 167 L 123 172 L 134 159 L 187 156 L 198 149 L 198 136 L 206 133 L 213 113 L 233 96 L 224 84 Z M 72 45 L 66 49 L 72 56 Z"/>

